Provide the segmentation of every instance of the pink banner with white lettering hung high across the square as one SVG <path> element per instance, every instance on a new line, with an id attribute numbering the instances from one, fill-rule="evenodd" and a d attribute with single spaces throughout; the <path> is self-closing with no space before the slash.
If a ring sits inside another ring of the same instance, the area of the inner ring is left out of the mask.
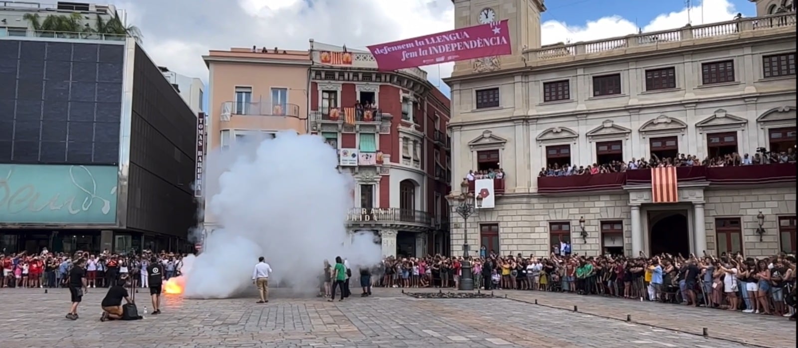
<path id="1" fill-rule="evenodd" d="M 380 70 L 464 61 L 512 53 L 507 20 L 444 33 L 370 45 Z"/>

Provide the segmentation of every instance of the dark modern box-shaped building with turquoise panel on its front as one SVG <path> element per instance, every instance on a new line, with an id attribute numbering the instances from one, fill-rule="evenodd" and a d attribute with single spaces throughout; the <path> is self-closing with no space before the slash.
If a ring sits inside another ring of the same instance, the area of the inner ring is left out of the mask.
<path id="1" fill-rule="evenodd" d="M 188 250 L 196 115 L 132 39 L 0 40 L 0 248 Z"/>

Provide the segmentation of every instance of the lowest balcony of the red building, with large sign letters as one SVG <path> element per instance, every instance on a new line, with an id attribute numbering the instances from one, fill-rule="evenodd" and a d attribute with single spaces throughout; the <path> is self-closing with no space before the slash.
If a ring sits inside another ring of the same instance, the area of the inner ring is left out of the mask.
<path id="1" fill-rule="evenodd" d="M 346 222 L 355 228 L 393 225 L 402 231 L 427 231 L 433 227 L 433 216 L 413 209 L 352 208 L 346 216 Z"/>

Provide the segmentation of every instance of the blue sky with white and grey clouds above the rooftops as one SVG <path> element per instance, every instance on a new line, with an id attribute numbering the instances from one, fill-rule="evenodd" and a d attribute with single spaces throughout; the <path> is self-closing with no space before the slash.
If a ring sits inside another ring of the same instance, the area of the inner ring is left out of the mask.
<path id="1" fill-rule="evenodd" d="M 364 48 L 453 28 L 451 0 L 112 0 L 128 24 L 144 34 L 157 64 L 207 82 L 202 55 L 209 49 L 251 47 L 307 49 L 308 39 Z M 666 30 L 688 23 L 689 0 L 556 0 L 543 13 L 543 44 L 579 42 Z M 693 0 L 689 22 L 754 16 L 749 0 Z M 440 77 L 451 64 L 425 67 L 429 80 L 448 94 Z M 440 73 L 439 73 L 440 72 Z"/>

